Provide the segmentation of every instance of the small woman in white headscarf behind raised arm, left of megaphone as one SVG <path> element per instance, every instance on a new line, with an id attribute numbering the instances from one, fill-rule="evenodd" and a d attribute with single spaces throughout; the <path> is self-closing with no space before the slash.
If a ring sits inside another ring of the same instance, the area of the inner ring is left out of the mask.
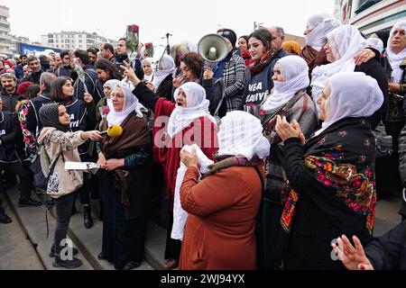
<path id="1" fill-rule="evenodd" d="M 175 71 L 175 61 L 166 53 L 162 56 L 158 70 L 155 72 L 152 84 L 155 87 L 155 93 L 167 100 L 172 101 L 173 72 Z"/>

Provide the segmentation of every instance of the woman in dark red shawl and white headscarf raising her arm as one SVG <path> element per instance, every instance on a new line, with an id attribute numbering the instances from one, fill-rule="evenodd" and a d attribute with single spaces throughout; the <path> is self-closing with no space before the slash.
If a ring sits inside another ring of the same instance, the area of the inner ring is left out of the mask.
<path id="1" fill-rule="evenodd" d="M 172 210 L 178 168 L 180 166 L 180 150 L 185 145 L 197 144 L 203 153 L 213 159 L 217 152 L 216 120 L 208 112 L 209 101 L 206 91 L 197 83 L 188 82 L 181 85 L 174 94 L 175 102 L 158 97 L 134 74 L 131 67 L 125 69 L 125 75 L 133 82 L 134 95 L 145 107 L 154 112 L 153 148 L 154 158 L 165 170 L 167 181 L 166 199 L 170 221 L 165 251 L 167 268 L 178 266 L 181 242 L 171 239 Z"/>

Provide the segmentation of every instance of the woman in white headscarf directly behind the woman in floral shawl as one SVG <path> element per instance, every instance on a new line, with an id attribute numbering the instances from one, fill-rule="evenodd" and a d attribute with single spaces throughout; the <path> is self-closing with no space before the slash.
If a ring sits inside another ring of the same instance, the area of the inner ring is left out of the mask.
<path id="1" fill-rule="evenodd" d="M 343 25 L 328 33 L 326 46 L 327 58 L 330 64 L 316 67 L 311 78 L 312 97 L 316 101 L 330 76 L 341 72 L 364 72 L 372 76 L 383 92 L 382 107 L 368 121 L 374 130 L 385 117 L 388 99 L 388 80 L 383 67 L 376 58 L 371 58 L 360 66 L 355 65 L 355 56 L 367 47 L 366 40 L 355 26 Z M 356 97 L 356 95 L 355 95 Z"/>

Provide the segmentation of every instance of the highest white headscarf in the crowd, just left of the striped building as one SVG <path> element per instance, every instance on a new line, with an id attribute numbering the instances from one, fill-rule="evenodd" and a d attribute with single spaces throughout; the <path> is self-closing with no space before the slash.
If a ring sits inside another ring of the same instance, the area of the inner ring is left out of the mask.
<path id="1" fill-rule="evenodd" d="M 309 18 L 306 44 L 313 49 L 321 50 L 327 43 L 327 34 L 340 26 L 337 20 L 328 14 L 316 14 Z"/>

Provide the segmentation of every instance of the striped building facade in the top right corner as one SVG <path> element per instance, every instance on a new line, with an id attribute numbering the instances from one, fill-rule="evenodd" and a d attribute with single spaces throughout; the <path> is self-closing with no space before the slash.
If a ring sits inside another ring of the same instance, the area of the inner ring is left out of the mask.
<path id="1" fill-rule="evenodd" d="M 406 0 L 336 0 L 335 16 L 370 35 L 406 19 Z"/>

